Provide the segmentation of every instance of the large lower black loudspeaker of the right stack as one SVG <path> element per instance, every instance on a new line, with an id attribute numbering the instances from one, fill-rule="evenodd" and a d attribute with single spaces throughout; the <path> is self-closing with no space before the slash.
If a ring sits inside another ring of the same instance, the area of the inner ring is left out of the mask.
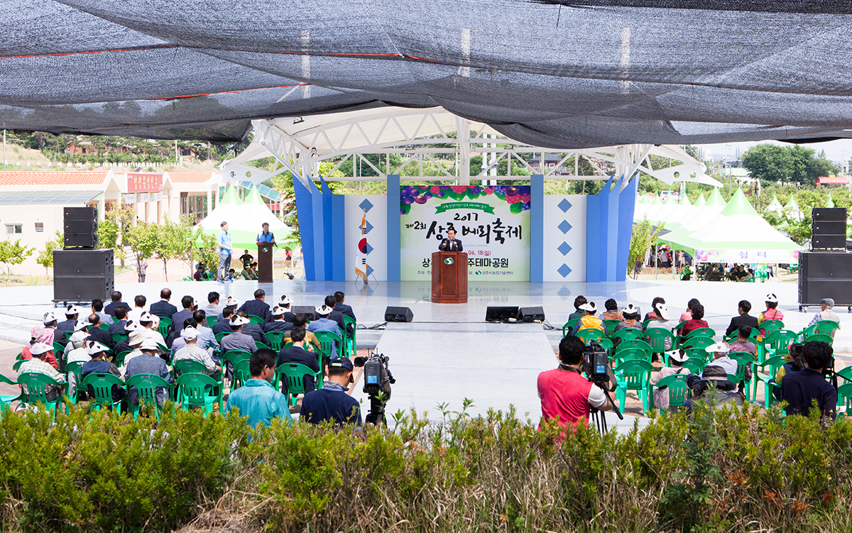
<path id="1" fill-rule="evenodd" d="M 852 253 L 799 253 L 798 300 L 803 306 L 833 298 L 836 306 L 852 305 Z"/>

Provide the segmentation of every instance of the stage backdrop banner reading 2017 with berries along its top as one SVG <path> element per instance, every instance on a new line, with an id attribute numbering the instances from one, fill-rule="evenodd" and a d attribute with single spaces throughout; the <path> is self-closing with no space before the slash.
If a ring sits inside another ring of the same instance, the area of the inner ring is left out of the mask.
<path id="1" fill-rule="evenodd" d="M 529 281 L 529 209 L 529 186 L 400 186 L 400 279 L 430 280 L 452 227 L 471 281 Z"/>

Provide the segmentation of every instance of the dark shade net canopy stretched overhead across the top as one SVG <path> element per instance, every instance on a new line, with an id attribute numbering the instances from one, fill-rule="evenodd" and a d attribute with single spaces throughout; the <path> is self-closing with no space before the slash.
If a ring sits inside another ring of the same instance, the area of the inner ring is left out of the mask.
<path id="1" fill-rule="evenodd" d="M 0 0 L 0 126 L 233 141 L 443 106 L 534 146 L 852 136 L 852 5 Z"/>

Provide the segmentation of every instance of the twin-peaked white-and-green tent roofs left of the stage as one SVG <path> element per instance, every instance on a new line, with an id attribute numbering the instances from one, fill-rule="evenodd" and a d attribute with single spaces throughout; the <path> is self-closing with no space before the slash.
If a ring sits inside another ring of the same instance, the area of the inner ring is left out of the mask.
<path id="1" fill-rule="evenodd" d="M 257 233 L 261 232 L 264 222 L 269 224 L 269 231 L 275 234 L 275 241 L 279 246 L 283 245 L 285 238 L 292 232 L 289 226 L 273 215 L 254 187 L 245 202 L 239 198 L 235 187 L 228 188 L 216 209 L 210 211 L 210 215 L 200 221 L 198 227 L 204 233 L 218 236 L 222 232 L 222 222 L 227 222 L 231 245 L 235 250 L 256 249 Z"/>

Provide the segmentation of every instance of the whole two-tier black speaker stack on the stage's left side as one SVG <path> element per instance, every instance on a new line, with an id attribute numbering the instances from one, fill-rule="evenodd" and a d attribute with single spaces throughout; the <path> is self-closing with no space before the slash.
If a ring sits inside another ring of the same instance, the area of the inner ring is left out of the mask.
<path id="1" fill-rule="evenodd" d="M 66 207 L 64 249 L 55 249 L 54 301 L 107 300 L 115 290 L 112 249 L 96 249 L 98 215 L 93 207 Z"/>

